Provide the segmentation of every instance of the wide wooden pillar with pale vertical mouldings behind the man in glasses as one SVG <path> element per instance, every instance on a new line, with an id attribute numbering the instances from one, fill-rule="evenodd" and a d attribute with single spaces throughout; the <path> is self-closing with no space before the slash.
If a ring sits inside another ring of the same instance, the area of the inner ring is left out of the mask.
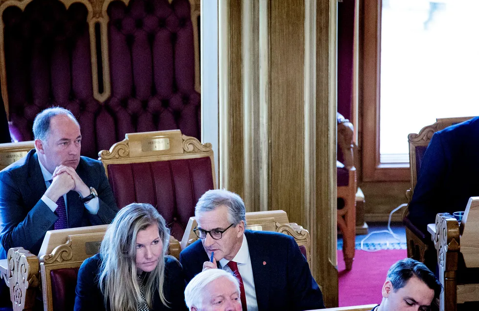
<path id="1" fill-rule="evenodd" d="M 218 5 L 220 187 L 309 230 L 311 271 L 335 307 L 336 1 Z"/>

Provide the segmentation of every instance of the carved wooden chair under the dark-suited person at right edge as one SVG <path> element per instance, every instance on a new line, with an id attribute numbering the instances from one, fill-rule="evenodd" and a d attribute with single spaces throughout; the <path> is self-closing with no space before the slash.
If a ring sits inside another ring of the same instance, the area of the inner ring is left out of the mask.
<path id="1" fill-rule="evenodd" d="M 453 124 L 461 123 L 471 119 L 472 117 L 464 118 L 444 118 L 437 119 L 432 125 L 423 127 L 418 134 L 409 134 L 409 163 L 411 169 L 411 188 L 406 191 L 408 203 L 413 198 L 414 187 L 417 183 L 417 176 L 421 168 L 421 161 L 426 152 L 426 148 L 433 137 L 433 134 Z M 409 208 L 409 207 L 408 207 Z M 409 220 L 409 210 L 404 211 L 403 223 L 406 227 L 406 239 L 408 257 L 418 260 L 426 264 L 426 266 L 435 270 L 436 254 L 434 244 L 431 240 L 431 235 L 428 232 L 423 232 L 421 229 L 414 226 Z"/>

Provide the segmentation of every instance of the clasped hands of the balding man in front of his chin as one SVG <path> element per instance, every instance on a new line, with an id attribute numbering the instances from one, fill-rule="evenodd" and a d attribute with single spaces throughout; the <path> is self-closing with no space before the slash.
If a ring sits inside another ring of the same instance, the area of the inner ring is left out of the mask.
<path id="1" fill-rule="evenodd" d="M 50 187 L 46 189 L 45 196 L 53 202 L 57 202 L 61 196 L 64 196 L 70 190 L 78 192 L 82 197 L 90 194 L 90 188 L 85 185 L 73 167 L 57 166 L 52 179 Z"/>

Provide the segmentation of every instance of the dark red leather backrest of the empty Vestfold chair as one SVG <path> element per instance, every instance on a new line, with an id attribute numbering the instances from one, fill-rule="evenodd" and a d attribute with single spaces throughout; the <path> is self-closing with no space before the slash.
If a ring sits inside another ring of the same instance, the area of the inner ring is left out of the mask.
<path id="1" fill-rule="evenodd" d="M 213 189 L 210 158 L 110 164 L 108 177 L 118 207 L 150 203 L 178 240 L 195 215 L 199 197 Z"/>

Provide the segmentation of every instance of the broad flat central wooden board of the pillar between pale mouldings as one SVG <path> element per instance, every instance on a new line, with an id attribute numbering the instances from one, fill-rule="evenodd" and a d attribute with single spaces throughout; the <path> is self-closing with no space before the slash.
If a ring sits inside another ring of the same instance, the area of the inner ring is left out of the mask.
<path id="1" fill-rule="evenodd" d="M 270 206 L 305 224 L 304 2 L 271 1 L 270 13 Z"/>

